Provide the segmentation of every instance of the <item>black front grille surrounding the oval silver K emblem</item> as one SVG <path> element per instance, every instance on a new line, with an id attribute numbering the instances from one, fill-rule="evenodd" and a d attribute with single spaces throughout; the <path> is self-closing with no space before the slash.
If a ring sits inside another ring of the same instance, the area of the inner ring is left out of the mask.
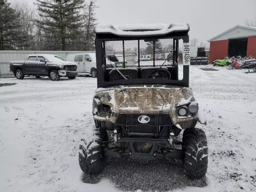
<path id="1" fill-rule="evenodd" d="M 138 118 L 141 115 L 146 115 L 150 118 L 150 121 L 146 125 L 150 125 L 150 126 L 172 125 L 172 120 L 169 114 L 124 114 L 124 113 L 118 114 L 116 124 L 126 125 L 126 126 L 140 125 L 141 123 L 138 121 Z"/>

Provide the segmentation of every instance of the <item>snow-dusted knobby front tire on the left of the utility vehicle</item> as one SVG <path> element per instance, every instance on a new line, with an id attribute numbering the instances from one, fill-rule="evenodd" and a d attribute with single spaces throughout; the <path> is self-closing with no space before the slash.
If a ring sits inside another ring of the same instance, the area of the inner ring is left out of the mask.
<path id="1" fill-rule="evenodd" d="M 98 174 L 106 166 L 106 159 L 104 156 L 104 148 L 102 147 L 102 140 L 108 138 L 108 134 L 104 132 L 95 131 L 94 139 L 91 141 L 82 140 L 79 146 L 79 165 L 83 172 L 87 174 Z"/>

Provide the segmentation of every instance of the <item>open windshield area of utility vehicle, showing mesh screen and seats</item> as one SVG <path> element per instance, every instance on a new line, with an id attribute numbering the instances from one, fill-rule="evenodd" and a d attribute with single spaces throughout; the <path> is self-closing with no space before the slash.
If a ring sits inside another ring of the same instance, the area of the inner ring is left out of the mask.
<path id="1" fill-rule="evenodd" d="M 173 42 L 173 39 L 105 41 L 105 81 L 138 78 L 176 80 Z"/>

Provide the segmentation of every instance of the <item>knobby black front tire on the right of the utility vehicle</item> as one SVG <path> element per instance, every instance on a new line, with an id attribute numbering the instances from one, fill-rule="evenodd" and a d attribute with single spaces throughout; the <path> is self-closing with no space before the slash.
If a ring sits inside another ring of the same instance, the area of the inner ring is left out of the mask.
<path id="1" fill-rule="evenodd" d="M 202 178 L 207 172 L 208 146 L 206 135 L 198 128 L 187 128 L 183 132 L 184 173 L 190 178 Z"/>

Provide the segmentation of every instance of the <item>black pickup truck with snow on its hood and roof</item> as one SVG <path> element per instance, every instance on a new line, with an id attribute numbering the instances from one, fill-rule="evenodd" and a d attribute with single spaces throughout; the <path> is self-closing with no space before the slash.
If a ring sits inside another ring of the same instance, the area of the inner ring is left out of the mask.
<path id="1" fill-rule="evenodd" d="M 78 74 L 76 69 L 76 63 L 51 54 L 32 54 L 28 55 L 26 61 L 10 62 L 10 70 L 17 79 L 24 79 L 25 75 L 36 78 L 48 76 L 53 81 L 58 81 L 60 77 L 75 79 Z"/>

